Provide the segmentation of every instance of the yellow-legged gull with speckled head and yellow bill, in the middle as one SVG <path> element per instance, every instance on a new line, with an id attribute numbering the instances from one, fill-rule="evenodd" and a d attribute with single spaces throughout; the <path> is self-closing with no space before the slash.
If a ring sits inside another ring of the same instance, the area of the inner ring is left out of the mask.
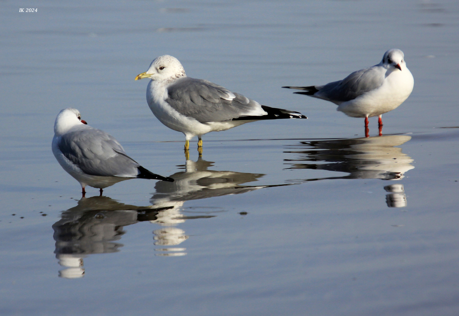
<path id="1" fill-rule="evenodd" d="M 185 134 L 185 155 L 195 136 L 201 155 L 201 137 L 208 132 L 258 120 L 307 118 L 299 112 L 261 105 L 208 80 L 187 77 L 179 60 L 169 55 L 156 57 L 135 80 L 143 78 L 151 79 L 146 99 L 153 114 L 162 124 Z"/>

